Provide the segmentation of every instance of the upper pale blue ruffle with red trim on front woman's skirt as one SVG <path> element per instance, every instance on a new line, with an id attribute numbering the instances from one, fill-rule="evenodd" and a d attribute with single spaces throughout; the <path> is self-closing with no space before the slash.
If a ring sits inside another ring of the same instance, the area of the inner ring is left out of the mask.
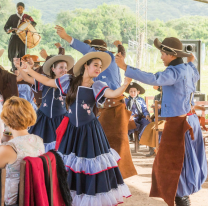
<path id="1" fill-rule="evenodd" d="M 55 149 L 56 142 L 45 145 L 45 151 Z M 84 173 L 86 175 L 96 175 L 103 171 L 118 167 L 117 162 L 121 159 L 119 154 L 112 148 L 109 153 L 101 154 L 95 158 L 77 157 L 74 153 L 69 155 L 61 155 L 66 170 L 72 170 L 75 173 Z"/>

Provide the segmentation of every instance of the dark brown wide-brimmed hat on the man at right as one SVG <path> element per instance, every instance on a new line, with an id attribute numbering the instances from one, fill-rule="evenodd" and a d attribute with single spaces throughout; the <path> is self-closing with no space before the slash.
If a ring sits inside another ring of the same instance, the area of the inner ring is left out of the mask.
<path id="1" fill-rule="evenodd" d="M 158 40 L 158 38 L 156 38 L 154 41 L 154 45 L 160 51 L 163 51 L 167 54 L 170 54 L 170 55 L 173 55 L 176 57 L 189 57 L 189 56 L 191 56 L 191 54 L 183 51 L 182 42 L 175 37 L 165 38 L 162 41 L 162 43 Z"/>

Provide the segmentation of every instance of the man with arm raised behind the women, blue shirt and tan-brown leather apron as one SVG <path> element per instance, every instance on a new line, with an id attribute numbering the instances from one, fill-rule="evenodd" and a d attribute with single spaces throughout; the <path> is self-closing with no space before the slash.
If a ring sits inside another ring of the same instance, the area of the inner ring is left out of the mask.
<path id="1" fill-rule="evenodd" d="M 120 70 L 115 62 L 115 57 L 112 52 L 107 50 L 107 44 L 101 39 L 94 39 L 90 44 L 83 43 L 77 39 L 69 36 L 65 29 L 56 26 L 57 34 L 71 45 L 72 48 L 80 51 L 83 55 L 94 52 L 102 51 L 111 56 L 110 66 L 102 72 L 94 81 L 104 81 L 108 84 L 110 89 L 117 89 L 121 85 Z M 118 47 L 118 51 L 125 57 L 125 49 L 120 41 L 115 41 L 114 45 Z M 131 112 L 126 109 L 124 96 L 117 99 L 107 99 L 104 108 L 101 109 L 99 121 L 104 129 L 108 138 L 110 146 L 115 149 L 121 157 L 118 162 L 119 169 L 123 178 L 128 178 L 136 175 L 136 169 L 133 165 L 129 140 L 128 140 L 128 123 Z"/>

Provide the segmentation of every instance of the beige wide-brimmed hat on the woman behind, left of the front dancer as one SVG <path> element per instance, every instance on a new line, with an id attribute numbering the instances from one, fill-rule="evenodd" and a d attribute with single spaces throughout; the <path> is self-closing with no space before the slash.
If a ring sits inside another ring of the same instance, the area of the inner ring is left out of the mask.
<path id="1" fill-rule="evenodd" d="M 67 62 L 67 71 L 69 71 L 74 66 L 74 58 L 70 55 L 57 55 L 48 59 L 43 65 L 43 72 L 50 75 L 51 66 L 57 61 Z"/>

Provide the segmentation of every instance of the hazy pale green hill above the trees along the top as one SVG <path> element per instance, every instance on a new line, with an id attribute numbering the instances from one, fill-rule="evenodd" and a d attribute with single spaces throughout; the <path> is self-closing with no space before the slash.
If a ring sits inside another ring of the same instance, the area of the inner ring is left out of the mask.
<path id="1" fill-rule="evenodd" d="M 17 3 L 21 0 L 13 0 Z M 136 0 L 22 0 L 26 7 L 35 7 L 41 10 L 45 23 L 53 22 L 60 11 L 74 10 L 76 8 L 96 8 L 106 4 L 121 4 L 131 8 L 136 12 Z M 148 19 L 160 19 L 168 21 L 187 15 L 208 15 L 208 4 L 193 0 L 148 0 Z"/>

